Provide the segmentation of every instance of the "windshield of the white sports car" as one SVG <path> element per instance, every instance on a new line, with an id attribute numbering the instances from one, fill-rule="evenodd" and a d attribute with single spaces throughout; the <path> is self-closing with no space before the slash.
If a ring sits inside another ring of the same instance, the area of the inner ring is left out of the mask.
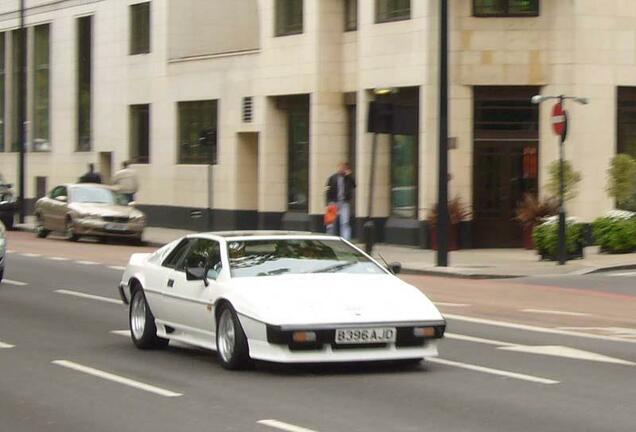
<path id="1" fill-rule="evenodd" d="M 385 273 L 342 240 L 245 240 L 229 241 L 227 247 L 232 277 Z"/>

